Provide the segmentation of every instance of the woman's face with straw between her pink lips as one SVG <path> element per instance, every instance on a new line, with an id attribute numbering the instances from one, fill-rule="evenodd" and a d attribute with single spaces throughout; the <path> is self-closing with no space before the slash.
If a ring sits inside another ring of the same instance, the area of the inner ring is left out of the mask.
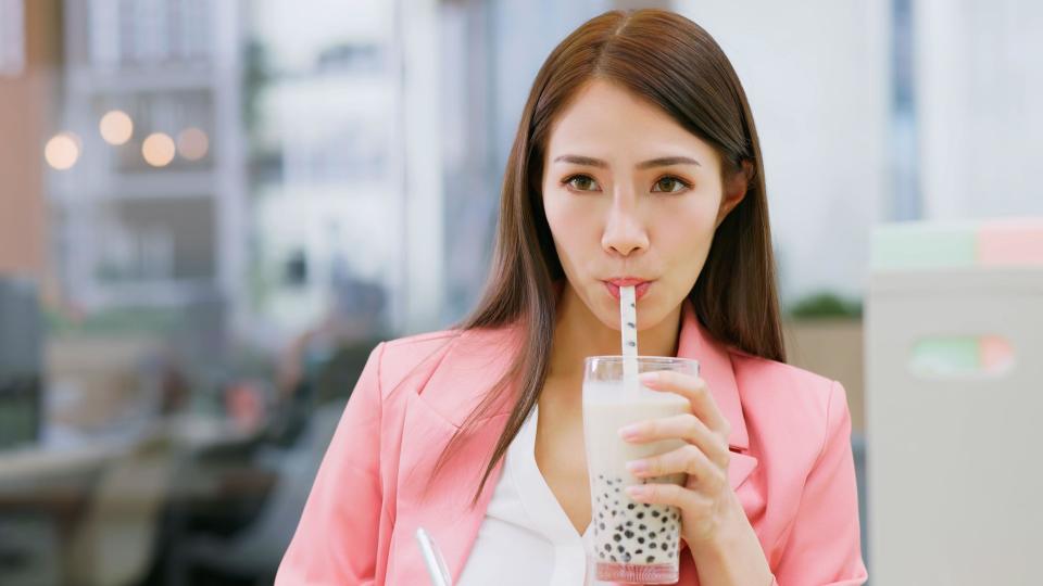
<path id="1" fill-rule="evenodd" d="M 603 80 L 558 115 L 545 153 L 543 208 L 576 295 L 618 329 L 618 285 L 642 283 L 638 329 L 659 323 L 695 284 L 744 177 L 726 190 L 709 144 Z"/>

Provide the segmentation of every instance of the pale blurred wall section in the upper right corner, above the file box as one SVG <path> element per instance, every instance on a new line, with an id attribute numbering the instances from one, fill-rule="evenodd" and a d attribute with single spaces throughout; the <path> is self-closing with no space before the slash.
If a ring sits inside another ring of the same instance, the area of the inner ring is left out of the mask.
<path id="1" fill-rule="evenodd" d="M 1043 4 L 913 7 L 925 216 L 1043 215 Z"/>

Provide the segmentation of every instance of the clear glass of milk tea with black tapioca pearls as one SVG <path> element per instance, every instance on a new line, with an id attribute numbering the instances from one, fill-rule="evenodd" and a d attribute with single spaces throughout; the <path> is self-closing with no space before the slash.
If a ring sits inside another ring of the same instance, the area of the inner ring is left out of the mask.
<path id="1" fill-rule="evenodd" d="M 638 372 L 671 370 L 698 375 L 699 362 L 688 358 L 638 357 Z M 583 369 L 583 441 L 590 474 L 591 525 L 587 557 L 605 582 L 674 584 L 678 581 L 681 513 L 677 507 L 638 502 L 624 488 L 634 484 L 683 484 L 687 475 L 639 479 L 627 462 L 673 451 L 680 438 L 634 444 L 619 428 L 649 419 L 691 412 L 689 400 L 676 393 L 652 391 L 638 383 L 625 388 L 621 356 L 592 356 Z M 590 563 L 588 564 L 590 565 Z"/>

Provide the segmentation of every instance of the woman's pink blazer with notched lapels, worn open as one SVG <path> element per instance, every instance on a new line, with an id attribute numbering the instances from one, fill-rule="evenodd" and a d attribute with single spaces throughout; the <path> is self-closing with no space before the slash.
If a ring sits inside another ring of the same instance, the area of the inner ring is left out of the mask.
<path id="1" fill-rule="evenodd" d="M 276 585 L 423 585 L 414 534 L 424 526 L 457 579 L 503 466 L 469 507 L 511 400 L 481 421 L 460 456 L 436 459 L 508 365 L 514 330 L 438 332 L 378 345 L 348 402 Z M 778 584 L 857 585 L 859 552 L 851 418 L 843 387 L 715 342 L 686 304 L 678 356 L 732 424 L 729 475 Z M 423 489 L 430 483 L 429 493 Z M 678 584 L 699 584 L 681 552 Z"/>

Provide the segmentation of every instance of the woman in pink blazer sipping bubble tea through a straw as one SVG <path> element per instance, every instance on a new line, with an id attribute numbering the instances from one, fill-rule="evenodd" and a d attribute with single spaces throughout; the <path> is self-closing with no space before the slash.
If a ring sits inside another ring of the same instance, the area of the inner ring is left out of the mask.
<path id="1" fill-rule="evenodd" d="M 537 75 L 504 178 L 494 267 L 458 329 L 380 344 L 332 440 L 277 583 L 426 584 L 425 527 L 456 584 L 598 584 L 582 440 L 586 356 L 639 347 L 701 378 L 692 415 L 628 441 L 637 500 L 681 510 L 680 582 L 862 584 L 843 388 L 787 366 L 753 117 L 706 31 L 662 11 L 583 24 Z M 506 463 L 505 463 L 506 462 Z"/>

